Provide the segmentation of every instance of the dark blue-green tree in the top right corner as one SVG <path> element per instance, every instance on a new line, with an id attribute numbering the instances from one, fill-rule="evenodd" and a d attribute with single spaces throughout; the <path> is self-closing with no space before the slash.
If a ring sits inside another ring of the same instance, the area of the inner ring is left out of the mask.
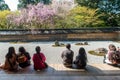
<path id="1" fill-rule="evenodd" d="M 106 22 L 108 26 L 120 26 L 120 0 L 102 0 L 99 3 L 99 12 L 104 16 L 101 18 Z"/>

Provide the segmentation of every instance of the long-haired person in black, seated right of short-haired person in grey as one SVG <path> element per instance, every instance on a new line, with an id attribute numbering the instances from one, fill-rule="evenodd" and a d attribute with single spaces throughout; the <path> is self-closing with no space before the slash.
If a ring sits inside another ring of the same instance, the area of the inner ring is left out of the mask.
<path id="1" fill-rule="evenodd" d="M 87 65 L 87 55 L 83 47 L 79 49 L 79 52 L 78 52 L 78 55 L 76 56 L 74 64 L 78 69 L 85 68 L 85 66 Z"/>

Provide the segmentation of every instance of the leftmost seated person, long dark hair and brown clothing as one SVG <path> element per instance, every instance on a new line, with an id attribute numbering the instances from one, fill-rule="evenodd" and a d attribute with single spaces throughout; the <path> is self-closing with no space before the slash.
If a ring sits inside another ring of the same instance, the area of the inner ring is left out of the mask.
<path id="1" fill-rule="evenodd" d="M 9 47 L 8 53 L 5 56 L 5 63 L 0 68 L 7 71 L 17 71 L 18 63 L 16 60 L 17 56 L 14 47 Z"/>

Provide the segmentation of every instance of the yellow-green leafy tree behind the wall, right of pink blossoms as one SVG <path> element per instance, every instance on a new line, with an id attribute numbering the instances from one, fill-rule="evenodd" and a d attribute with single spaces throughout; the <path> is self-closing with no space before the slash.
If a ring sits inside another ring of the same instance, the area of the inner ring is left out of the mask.
<path id="1" fill-rule="evenodd" d="M 104 27 L 103 14 L 97 14 L 97 9 L 76 6 L 66 14 L 58 14 L 55 18 L 56 28 Z M 65 13 L 65 12 L 64 12 Z"/>

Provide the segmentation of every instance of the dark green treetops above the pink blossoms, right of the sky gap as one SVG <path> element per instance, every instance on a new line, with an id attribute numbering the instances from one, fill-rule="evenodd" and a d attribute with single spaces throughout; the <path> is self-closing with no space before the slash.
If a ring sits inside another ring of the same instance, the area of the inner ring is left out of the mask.
<path id="1" fill-rule="evenodd" d="M 18 9 L 26 8 L 29 4 L 38 4 L 39 2 L 49 4 L 51 0 L 19 0 Z"/>

